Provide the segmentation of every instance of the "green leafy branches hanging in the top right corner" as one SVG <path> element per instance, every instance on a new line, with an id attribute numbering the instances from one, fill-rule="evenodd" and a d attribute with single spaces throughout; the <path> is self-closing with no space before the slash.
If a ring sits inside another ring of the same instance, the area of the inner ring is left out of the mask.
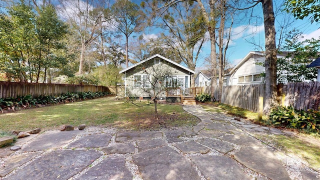
<path id="1" fill-rule="evenodd" d="M 311 22 L 320 20 L 320 0 L 286 0 L 285 10 L 297 19 L 310 18 Z"/>

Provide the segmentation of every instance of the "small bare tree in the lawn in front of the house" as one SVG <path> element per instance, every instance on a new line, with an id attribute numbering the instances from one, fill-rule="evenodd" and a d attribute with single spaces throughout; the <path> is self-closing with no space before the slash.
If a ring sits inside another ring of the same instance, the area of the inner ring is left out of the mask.
<path id="1" fill-rule="evenodd" d="M 157 60 L 158 59 L 155 59 L 155 61 Z M 132 79 L 134 88 L 128 90 L 128 93 L 131 94 L 130 96 L 135 97 L 151 97 L 152 102 L 145 105 L 153 103 L 155 120 L 157 120 L 159 123 L 164 123 L 163 121 L 159 120 L 157 103 L 158 100 L 162 99 L 162 97 L 165 95 L 165 80 L 168 81 L 168 79 L 172 79 L 172 69 L 164 62 L 155 64 L 153 64 L 153 60 L 150 60 L 150 62 L 151 63 L 146 63 L 145 65 L 138 65 L 135 67 L 135 74 L 138 75 L 134 75 L 134 79 Z"/>

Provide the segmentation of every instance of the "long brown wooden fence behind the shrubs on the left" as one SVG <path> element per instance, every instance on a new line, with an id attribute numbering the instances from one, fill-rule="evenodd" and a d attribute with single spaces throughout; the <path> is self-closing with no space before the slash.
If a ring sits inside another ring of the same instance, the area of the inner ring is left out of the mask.
<path id="1" fill-rule="evenodd" d="M 77 84 L 47 84 L 28 82 L 4 82 L 0 81 L 0 98 L 16 97 L 17 95 L 58 95 L 65 92 L 111 92 L 108 87 L 101 85 L 77 85 Z"/>

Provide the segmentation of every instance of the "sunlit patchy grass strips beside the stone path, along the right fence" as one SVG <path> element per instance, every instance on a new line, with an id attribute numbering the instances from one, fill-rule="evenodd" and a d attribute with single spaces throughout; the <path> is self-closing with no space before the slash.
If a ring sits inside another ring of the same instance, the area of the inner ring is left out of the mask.
<path id="1" fill-rule="evenodd" d="M 217 113 L 226 113 L 232 116 L 245 118 L 254 123 L 272 126 L 267 116 L 262 117 L 262 121 L 257 121 L 257 113 L 249 110 L 230 106 L 221 103 L 200 104 L 205 110 Z M 297 131 L 296 129 L 292 129 Z M 320 134 L 310 134 L 299 131 L 295 136 L 284 135 L 256 135 L 257 138 L 271 144 L 272 146 L 285 151 L 287 154 L 294 154 L 305 160 L 309 165 L 320 170 Z"/>

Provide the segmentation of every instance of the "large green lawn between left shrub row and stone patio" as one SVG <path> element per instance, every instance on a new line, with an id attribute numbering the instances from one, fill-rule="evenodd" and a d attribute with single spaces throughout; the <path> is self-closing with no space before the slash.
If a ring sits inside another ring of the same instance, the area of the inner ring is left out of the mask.
<path id="1" fill-rule="evenodd" d="M 157 104 L 160 125 L 154 120 L 154 105 L 137 107 L 114 97 L 77 101 L 0 114 L 0 131 L 58 129 L 62 124 L 150 130 L 196 124 L 197 117 L 185 112 L 181 105 Z"/>

